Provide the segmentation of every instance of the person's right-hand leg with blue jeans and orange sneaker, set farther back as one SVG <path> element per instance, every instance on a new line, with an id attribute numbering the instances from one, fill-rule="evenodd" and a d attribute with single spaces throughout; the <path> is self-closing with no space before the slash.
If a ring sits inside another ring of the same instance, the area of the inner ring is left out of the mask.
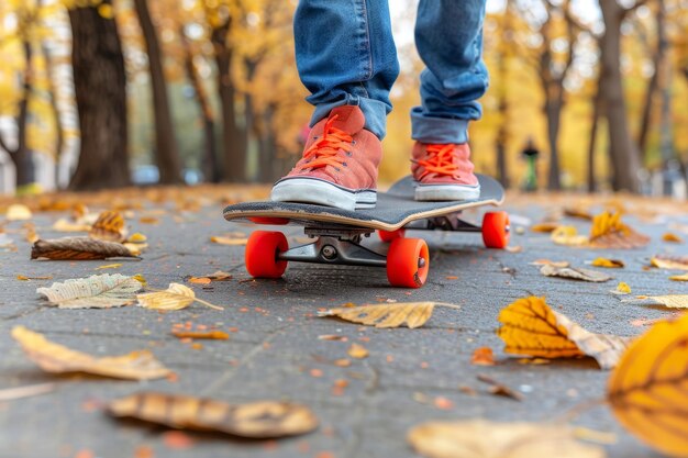
<path id="1" fill-rule="evenodd" d="M 488 87 L 482 62 L 486 0 L 421 0 L 415 43 L 426 68 L 421 74 L 421 107 L 411 111 L 411 170 L 417 200 L 477 199 L 468 121 L 481 115 Z"/>

